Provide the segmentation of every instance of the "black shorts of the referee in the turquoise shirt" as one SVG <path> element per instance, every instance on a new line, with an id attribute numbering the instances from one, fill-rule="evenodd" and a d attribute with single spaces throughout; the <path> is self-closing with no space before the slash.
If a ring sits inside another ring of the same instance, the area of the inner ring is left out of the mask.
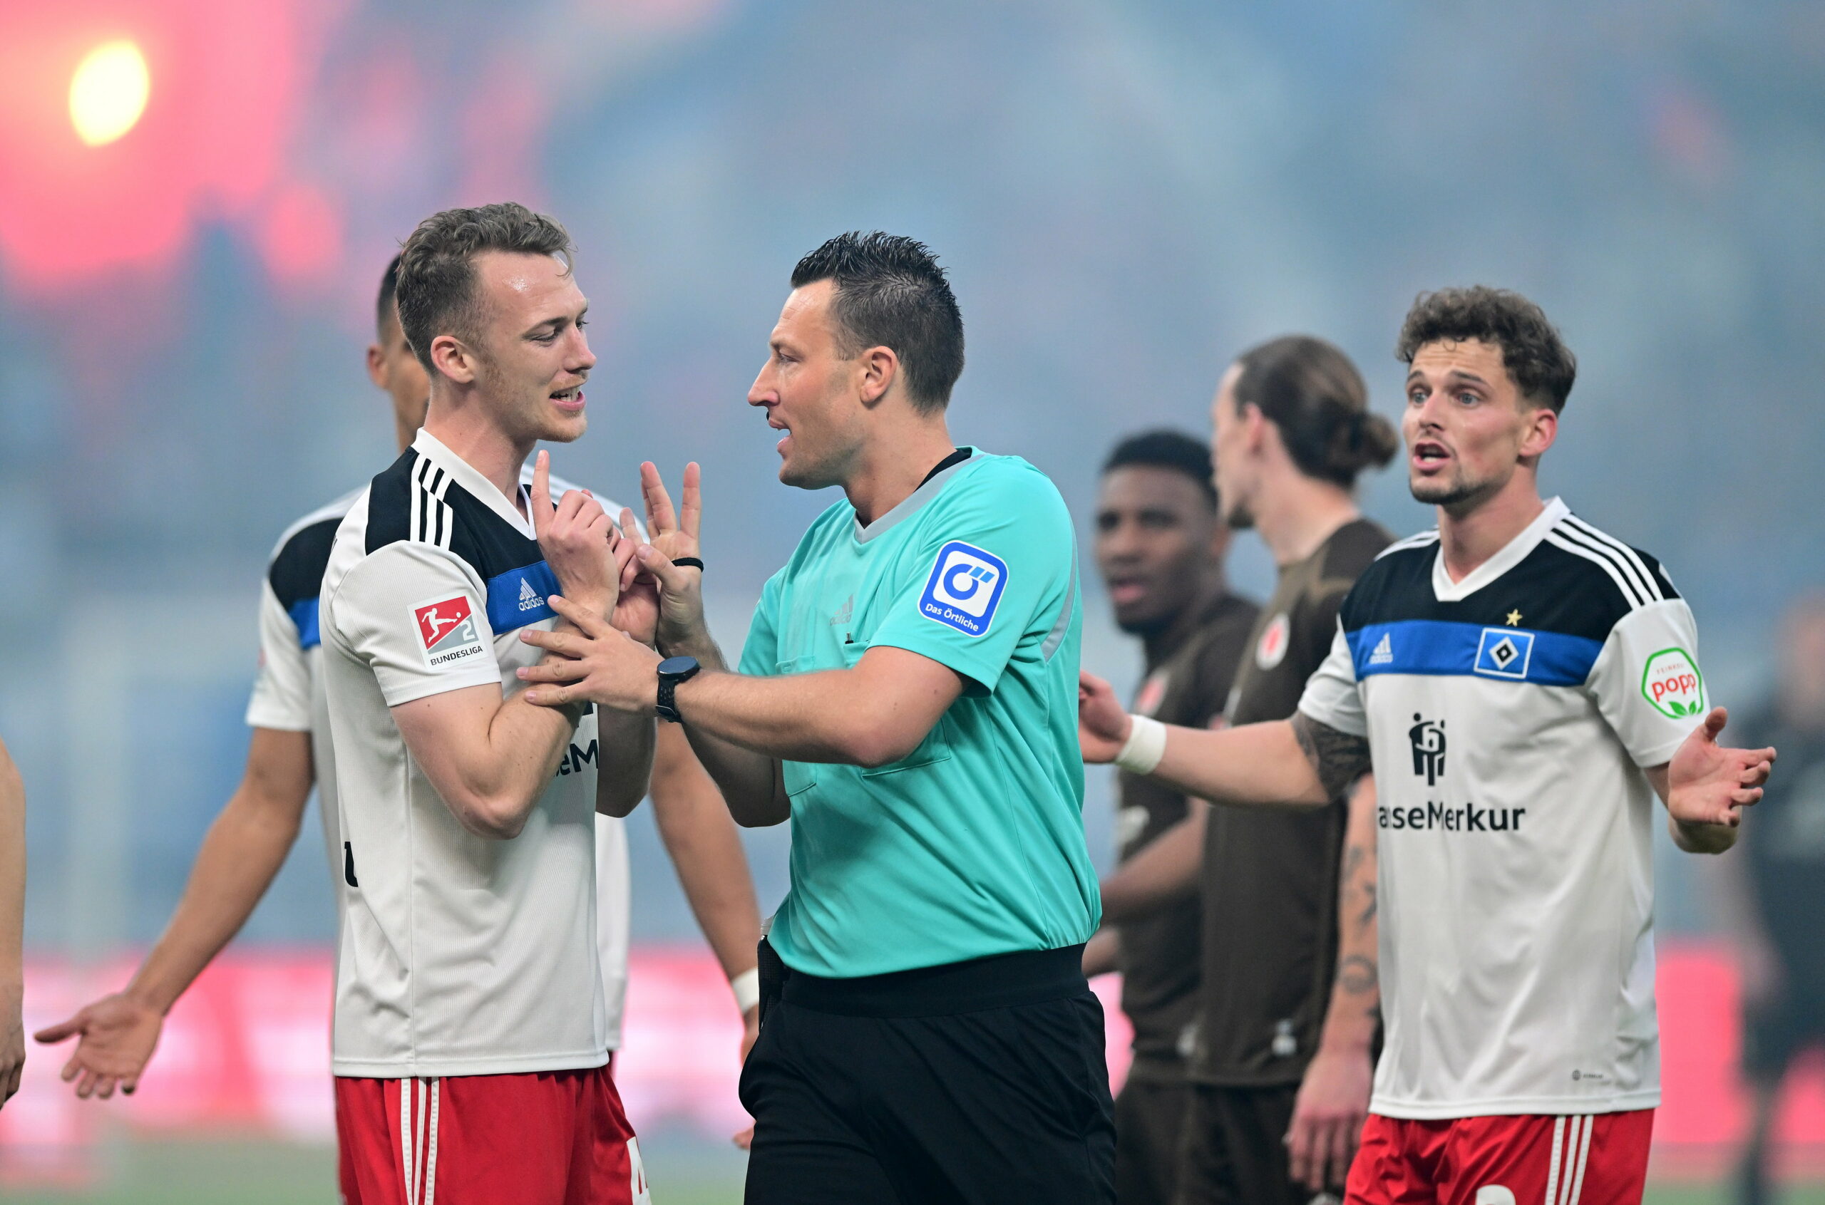
<path id="1" fill-rule="evenodd" d="M 1110 1205 L 1102 1004 L 1080 964 L 1073 946 L 785 972 L 741 1070 L 746 1205 Z"/>

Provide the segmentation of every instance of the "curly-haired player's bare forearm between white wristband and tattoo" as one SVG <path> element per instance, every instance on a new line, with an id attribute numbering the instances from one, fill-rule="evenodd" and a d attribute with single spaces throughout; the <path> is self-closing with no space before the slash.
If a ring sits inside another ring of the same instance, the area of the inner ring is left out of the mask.
<path id="1" fill-rule="evenodd" d="M 1210 731 L 1166 727 L 1166 753 L 1148 775 L 1214 804 L 1316 808 L 1329 802 L 1292 724 Z"/>

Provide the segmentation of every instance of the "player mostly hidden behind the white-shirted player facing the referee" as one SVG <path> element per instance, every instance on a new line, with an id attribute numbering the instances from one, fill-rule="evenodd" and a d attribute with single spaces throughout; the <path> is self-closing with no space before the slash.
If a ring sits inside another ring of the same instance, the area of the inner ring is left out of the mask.
<path id="1" fill-rule="evenodd" d="M 394 304 L 398 273 L 400 259 L 394 255 L 380 283 L 367 370 L 392 405 L 392 427 L 403 452 L 423 427 L 431 381 L 400 328 Z M 531 483 L 531 467 L 524 481 Z M 557 478 L 553 487 L 560 487 Z M 303 516 L 274 549 L 261 589 L 259 676 L 246 709 L 254 729 L 246 773 L 210 826 L 164 935 L 126 988 L 36 1034 L 42 1043 L 78 1037 L 64 1066 L 64 1079 L 75 1079 L 77 1096 L 106 1099 L 115 1087 L 133 1092 L 172 1004 L 241 930 L 279 873 L 297 839 L 312 784 L 318 788 L 332 891 L 341 908 L 349 888 L 345 850 L 338 837 L 336 762 L 323 709 L 318 592 L 336 527 L 360 494 L 352 490 Z M 615 509 L 613 503 L 604 507 Z M 754 979 L 759 915 L 748 866 L 715 784 L 679 733 L 668 733 L 653 755 L 653 817 L 725 973 L 743 992 L 756 992 L 748 983 Z M 597 877 L 608 1045 L 615 1050 L 620 1046 L 628 983 L 630 917 L 628 844 L 622 820 L 615 817 L 597 819 Z M 743 1003 L 739 995 L 737 1003 Z M 743 1012 L 752 1041 L 759 1006 L 745 1003 Z"/>

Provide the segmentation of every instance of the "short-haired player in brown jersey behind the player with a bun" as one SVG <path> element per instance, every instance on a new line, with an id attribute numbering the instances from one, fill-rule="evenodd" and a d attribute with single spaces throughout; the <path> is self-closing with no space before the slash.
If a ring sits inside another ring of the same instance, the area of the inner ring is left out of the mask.
<path id="1" fill-rule="evenodd" d="M 1175 430 L 1130 436 L 1102 467 L 1097 567 L 1115 623 L 1141 638 L 1146 678 L 1133 709 L 1166 724 L 1223 720 L 1248 644 L 1252 602 L 1223 580 L 1230 529 L 1217 520 L 1210 445 Z M 1184 826 L 1192 857 L 1208 806 L 1148 778 L 1121 775 L 1117 842 L 1132 859 Z M 1104 924 L 1084 950 L 1084 973 L 1122 972 L 1133 1063 L 1115 1097 L 1115 1200 L 1172 1205 L 1195 1032 L 1199 901 L 1186 890 L 1150 915 Z"/>

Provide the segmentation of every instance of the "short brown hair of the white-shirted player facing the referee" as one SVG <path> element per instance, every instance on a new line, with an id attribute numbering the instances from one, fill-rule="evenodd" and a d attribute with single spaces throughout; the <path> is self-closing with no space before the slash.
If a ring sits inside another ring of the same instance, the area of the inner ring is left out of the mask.
<path id="1" fill-rule="evenodd" d="M 473 339 L 482 324 L 474 257 L 482 252 L 557 255 L 566 272 L 569 232 L 544 213 L 506 201 L 474 210 L 443 210 L 418 222 L 400 250 L 400 326 L 418 363 L 431 370 L 431 341 L 440 334 Z"/>

